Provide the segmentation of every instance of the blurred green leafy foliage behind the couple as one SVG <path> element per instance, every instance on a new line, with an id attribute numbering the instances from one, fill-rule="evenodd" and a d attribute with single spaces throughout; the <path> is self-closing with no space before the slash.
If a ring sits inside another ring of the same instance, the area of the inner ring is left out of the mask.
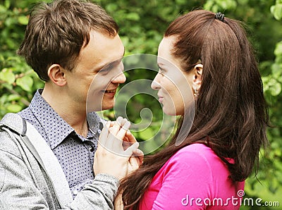
<path id="1" fill-rule="evenodd" d="M 18 112 L 28 106 L 35 90 L 43 87 L 23 58 L 16 56 L 23 40 L 28 11 L 37 0 L 0 1 L 0 118 L 8 112 Z M 120 36 L 125 45 L 125 56 L 136 53 L 157 54 L 158 44 L 168 26 L 177 16 L 195 8 L 221 11 L 227 17 L 242 20 L 259 60 L 264 82 L 264 94 L 269 104 L 271 124 L 268 137 L 269 150 L 262 151 L 257 178 L 246 181 L 245 197 L 262 198 L 263 202 L 278 201 L 282 206 L 282 0 L 97 0 L 114 17 L 121 28 Z M 199 26 L 200 27 L 200 26 Z M 151 79 L 154 72 L 136 71 L 128 75 L 128 82 L 139 78 Z M 157 109 L 152 100 L 136 96 L 128 106 L 130 121 L 140 121 L 138 110 L 145 107 Z M 158 111 L 159 110 L 159 111 Z M 158 113 L 159 112 L 159 113 Z M 104 116 L 114 118 L 113 111 Z M 159 118 L 154 119 L 159 121 Z M 144 132 L 136 133 L 142 141 L 157 130 L 158 122 Z M 262 203 L 262 202 L 261 202 Z M 257 209 L 242 206 L 241 209 Z M 281 208 L 281 207 L 280 207 Z M 260 209 L 279 209 L 262 206 Z"/>

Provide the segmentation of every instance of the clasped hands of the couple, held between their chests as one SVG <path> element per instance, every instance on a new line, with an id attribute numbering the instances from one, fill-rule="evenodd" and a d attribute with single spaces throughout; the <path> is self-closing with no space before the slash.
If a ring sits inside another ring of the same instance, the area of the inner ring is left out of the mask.
<path id="1" fill-rule="evenodd" d="M 130 122 L 122 117 L 104 126 L 94 155 L 94 174 L 106 173 L 121 180 L 139 168 L 143 152 L 129 130 Z"/>

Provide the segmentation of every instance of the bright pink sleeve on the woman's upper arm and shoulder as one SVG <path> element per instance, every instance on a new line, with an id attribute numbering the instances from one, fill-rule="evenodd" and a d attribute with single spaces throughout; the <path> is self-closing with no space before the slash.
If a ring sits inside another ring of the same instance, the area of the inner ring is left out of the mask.
<path id="1" fill-rule="evenodd" d="M 205 209 L 204 198 L 211 197 L 212 170 L 204 156 L 180 151 L 164 171 L 161 189 L 152 209 Z"/>

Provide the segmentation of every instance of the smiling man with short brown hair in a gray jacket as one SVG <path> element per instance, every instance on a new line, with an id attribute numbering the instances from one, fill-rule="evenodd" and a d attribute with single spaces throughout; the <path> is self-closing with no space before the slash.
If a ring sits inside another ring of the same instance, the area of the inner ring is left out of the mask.
<path id="1" fill-rule="evenodd" d="M 37 90 L 30 106 L 18 114 L 38 130 L 54 152 L 74 200 L 67 207 L 60 206 L 52 189 L 44 186 L 49 182 L 44 172 L 32 171 L 34 164 L 27 161 L 27 166 L 18 145 L 1 134 L 0 205 L 4 209 L 113 208 L 118 185 L 114 176 L 119 172 L 94 178 L 94 152 L 103 121 L 92 111 L 111 109 L 118 85 L 125 82 L 118 25 L 89 2 L 40 4 L 30 13 L 18 54 L 45 81 L 44 89 Z M 92 80 L 90 93 L 94 94 L 86 108 Z M 35 182 L 38 179 L 44 190 Z"/>

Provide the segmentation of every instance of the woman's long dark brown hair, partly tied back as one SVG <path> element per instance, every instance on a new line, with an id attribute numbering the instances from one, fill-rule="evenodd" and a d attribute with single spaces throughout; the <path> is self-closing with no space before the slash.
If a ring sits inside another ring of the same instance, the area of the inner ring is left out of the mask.
<path id="1" fill-rule="evenodd" d="M 165 32 L 164 37 L 177 37 L 171 54 L 183 61 L 183 70 L 191 70 L 199 59 L 204 66 L 195 118 L 182 144 L 176 146 L 183 118 L 168 146 L 146 156 L 142 166 L 122 180 L 118 192 L 123 192 L 125 209 L 138 209 L 157 171 L 179 149 L 195 142 L 213 149 L 234 182 L 245 180 L 254 166 L 257 172 L 259 149 L 268 143 L 268 113 L 257 61 L 240 22 L 214 17 L 209 11 L 192 11 L 174 20 Z"/>

